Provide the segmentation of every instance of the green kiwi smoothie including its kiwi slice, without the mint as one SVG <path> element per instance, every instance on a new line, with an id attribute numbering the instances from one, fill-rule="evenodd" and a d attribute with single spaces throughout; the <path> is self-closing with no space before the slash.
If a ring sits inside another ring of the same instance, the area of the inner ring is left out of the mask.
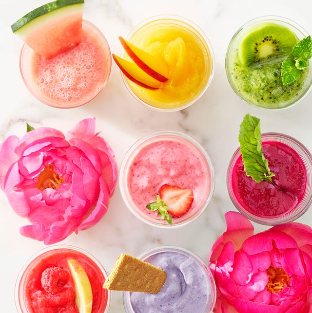
<path id="1" fill-rule="evenodd" d="M 303 37 L 303 36 L 302 36 Z M 234 91 L 247 103 L 263 109 L 281 109 L 296 103 L 309 89 L 309 61 L 298 77 L 285 84 L 283 61 L 300 39 L 288 26 L 262 21 L 241 28 L 233 37 L 226 70 Z"/>

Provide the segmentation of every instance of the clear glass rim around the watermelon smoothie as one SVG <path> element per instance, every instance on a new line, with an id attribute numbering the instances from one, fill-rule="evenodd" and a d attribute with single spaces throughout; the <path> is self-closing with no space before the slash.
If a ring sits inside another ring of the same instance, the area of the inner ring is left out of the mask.
<path id="1" fill-rule="evenodd" d="M 53 101 L 53 99 L 45 97 L 41 92 L 39 92 L 37 85 L 32 81 L 31 79 L 31 74 L 29 73 L 29 58 L 31 54 L 33 53 L 33 50 L 26 44 L 24 43 L 21 50 L 20 50 L 20 74 L 22 77 L 22 80 L 28 89 L 28 91 L 40 102 L 42 102 L 45 105 L 48 105 L 53 108 L 58 108 L 58 109 L 71 109 L 71 108 L 78 108 L 80 106 L 83 106 L 85 104 L 88 104 L 91 102 L 93 99 L 95 99 L 98 94 L 104 89 L 104 87 L 107 84 L 107 81 L 109 79 L 110 73 L 111 73 L 111 68 L 112 68 L 112 56 L 111 56 L 111 50 L 108 44 L 108 41 L 106 37 L 103 35 L 103 33 L 99 30 L 99 28 L 90 22 L 89 20 L 83 19 L 82 20 L 82 26 L 86 27 L 88 30 L 90 30 L 93 34 L 95 34 L 102 47 L 103 50 L 105 51 L 106 55 L 106 61 L 107 61 L 107 71 L 104 76 L 104 79 L 102 81 L 101 87 L 98 89 L 97 92 L 94 92 L 92 96 L 90 96 L 88 99 L 84 101 L 77 101 L 74 102 L 73 104 L 68 103 L 68 104 L 63 104 L 60 103 L 59 101 Z"/>

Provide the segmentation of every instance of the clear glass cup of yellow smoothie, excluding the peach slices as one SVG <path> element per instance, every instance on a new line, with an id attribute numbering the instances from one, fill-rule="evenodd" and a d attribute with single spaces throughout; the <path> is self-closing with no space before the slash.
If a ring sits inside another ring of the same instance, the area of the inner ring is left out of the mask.
<path id="1" fill-rule="evenodd" d="M 195 103 L 211 83 L 214 52 L 204 32 L 192 21 L 173 15 L 151 17 L 135 26 L 127 40 L 161 55 L 168 65 L 169 80 L 158 90 L 140 87 L 122 74 L 129 92 L 148 108 L 167 112 L 185 109 Z M 124 49 L 121 56 L 130 60 Z"/>

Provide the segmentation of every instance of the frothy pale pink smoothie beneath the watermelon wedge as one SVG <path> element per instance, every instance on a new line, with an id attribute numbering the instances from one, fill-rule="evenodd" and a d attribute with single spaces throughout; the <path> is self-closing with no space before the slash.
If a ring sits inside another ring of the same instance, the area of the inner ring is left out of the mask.
<path id="1" fill-rule="evenodd" d="M 105 37 L 85 20 L 78 45 L 48 59 L 32 51 L 27 62 L 26 86 L 41 102 L 59 108 L 91 101 L 105 86 L 111 70 Z"/>

